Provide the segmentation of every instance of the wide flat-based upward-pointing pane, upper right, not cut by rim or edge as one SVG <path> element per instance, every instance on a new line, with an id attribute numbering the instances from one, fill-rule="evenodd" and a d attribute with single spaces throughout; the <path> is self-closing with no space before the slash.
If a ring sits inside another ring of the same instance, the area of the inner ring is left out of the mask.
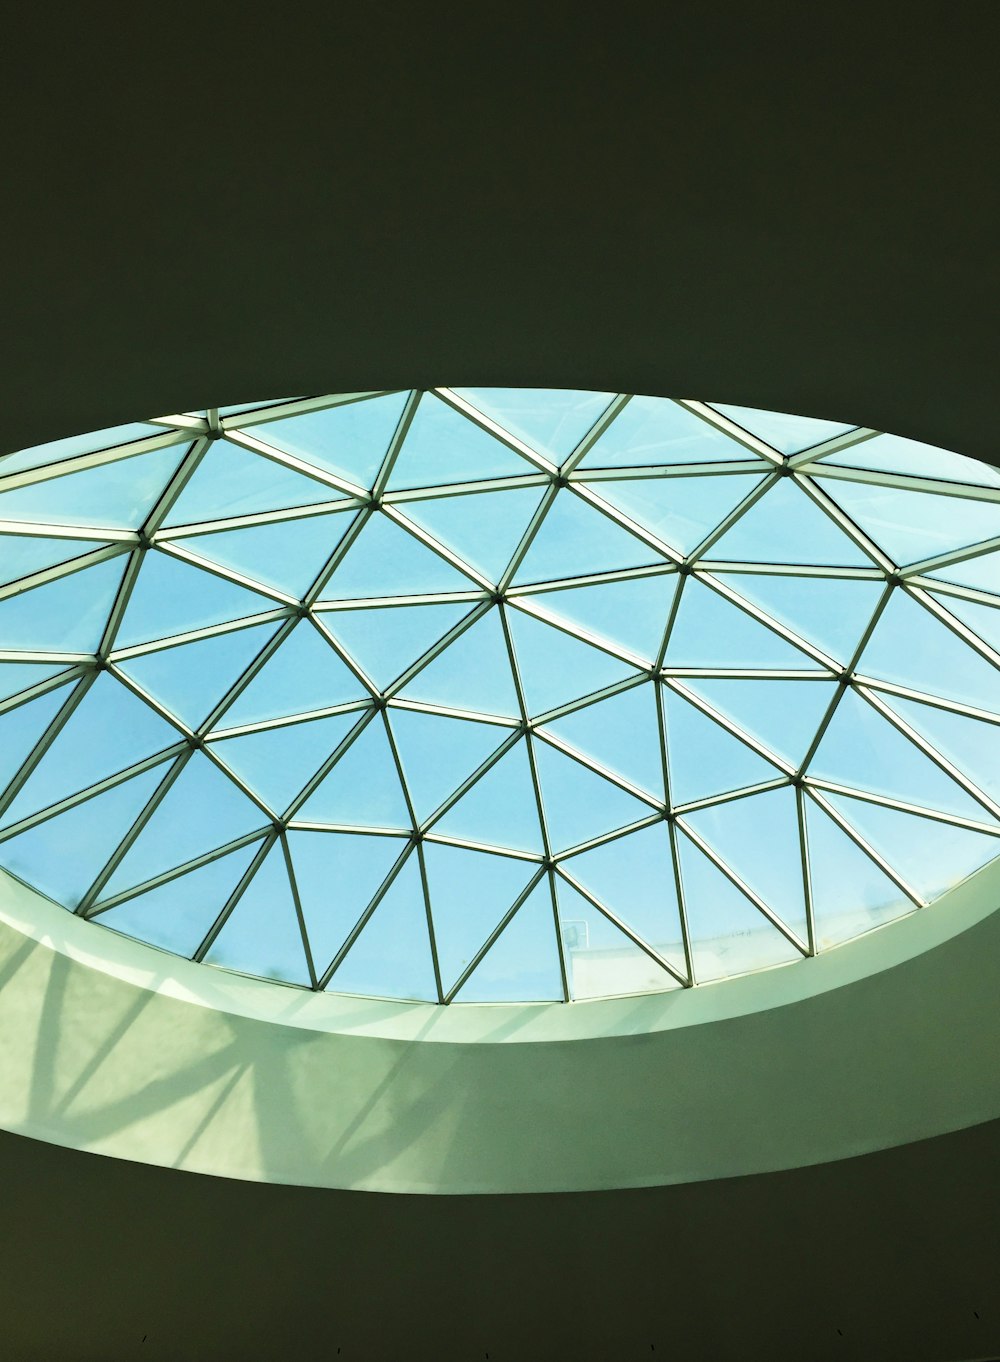
<path id="1" fill-rule="evenodd" d="M 706 554 L 717 563 L 871 568 L 873 560 L 794 484 L 779 478 Z"/>

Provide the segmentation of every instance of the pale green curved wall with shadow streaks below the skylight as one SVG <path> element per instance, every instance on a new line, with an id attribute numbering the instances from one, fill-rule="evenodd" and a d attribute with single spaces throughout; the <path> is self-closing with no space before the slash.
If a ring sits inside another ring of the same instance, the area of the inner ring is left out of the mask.
<path id="1" fill-rule="evenodd" d="M 381 1192 L 586 1190 L 823 1163 L 1000 1115 L 996 865 L 816 960 L 559 1008 L 313 998 L 0 891 L 0 1125 L 117 1158 Z"/>

